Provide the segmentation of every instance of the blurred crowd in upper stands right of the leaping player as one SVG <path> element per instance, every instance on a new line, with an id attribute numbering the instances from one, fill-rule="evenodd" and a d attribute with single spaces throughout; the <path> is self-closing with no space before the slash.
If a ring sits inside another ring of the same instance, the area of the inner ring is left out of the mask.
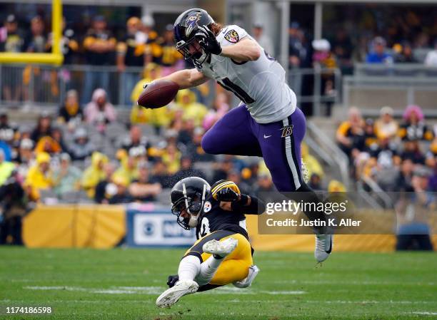
<path id="1" fill-rule="evenodd" d="M 296 21 L 289 29 L 291 66 L 308 68 L 322 60 L 351 73 L 354 62 L 437 65 L 437 24 L 426 8 L 333 5 L 324 10 L 323 23 L 329 26 L 323 29 L 326 39 L 311 42 L 308 26 L 297 22 L 301 11 L 293 14 L 292 6 L 291 18 Z M 312 51 L 326 53 L 315 58 Z"/>

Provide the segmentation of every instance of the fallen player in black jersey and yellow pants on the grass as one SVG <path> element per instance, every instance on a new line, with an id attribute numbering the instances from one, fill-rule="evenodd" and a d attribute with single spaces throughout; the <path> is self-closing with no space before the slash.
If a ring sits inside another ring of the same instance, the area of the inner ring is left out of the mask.
<path id="1" fill-rule="evenodd" d="M 246 217 L 266 209 L 256 197 L 243 195 L 230 180 L 212 187 L 200 177 L 186 177 L 171 190 L 171 212 L 184 229 L 196 228 L 197 241 L 179 263 L 178 274 L 170 276 L 169 289 L 156 299 L 161 308 L 181 296 L 226 284 L 249 287 L 258 267 L 248 241 Z"/>

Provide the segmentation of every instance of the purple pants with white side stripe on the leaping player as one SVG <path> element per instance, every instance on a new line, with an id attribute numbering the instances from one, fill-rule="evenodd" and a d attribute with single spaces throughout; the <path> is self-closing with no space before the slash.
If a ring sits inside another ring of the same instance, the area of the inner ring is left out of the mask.
<path id="1" fill-rule="evenodd" d="M 293 125 L 288 137 L 281 137 L 284 125 Z M 202 148 L 214 155 L 258 155 L 264 158 L 276 189 L 296 191 L 302 183 L 301 143 L 306 120 L 298 108 L 275 123 L 256 123 L 246 105 L 234 108 L 206 132 Z"/>

